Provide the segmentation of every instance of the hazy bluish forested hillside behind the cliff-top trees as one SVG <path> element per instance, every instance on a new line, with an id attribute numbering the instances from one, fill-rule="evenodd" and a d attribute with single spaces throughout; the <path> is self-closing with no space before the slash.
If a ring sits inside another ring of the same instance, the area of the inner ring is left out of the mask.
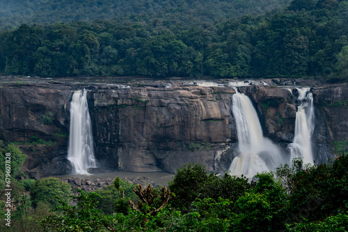
<path id="1" fill-rule="evenodd" d="M 162 17 L 183 25 L 212 24 L 232 17 L 269 12 L 288 3 L 290 0 L 10 0 L 0 1 L 0 28 L 90 22 L 123 16 Z"/>

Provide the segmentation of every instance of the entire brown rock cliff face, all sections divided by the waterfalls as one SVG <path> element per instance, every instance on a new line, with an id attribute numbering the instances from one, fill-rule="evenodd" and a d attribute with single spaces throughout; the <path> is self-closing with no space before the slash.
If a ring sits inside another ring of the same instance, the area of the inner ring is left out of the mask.
<path id="1" fill-rule="evenodd" d="M 129 172 L 175 172 L 184 163 L 202 163 L 224 172 L 237 147 L 230 86 L 200 87 L 148 82 L 124 85 L 31 83 L 1 84 L 0 140 L 17 142 L 29 176 L 68 174 L 70 101 L 88 89 L 95 154 L 103 167 Z M 171 86 L 169 86 L 171 85 Z M 239 88 L 255 104 L 264 135 L 292 142 L 298 103 L 291 90 L 271 86 Z M 331 156 L 331 144 L 347 141 L 348 87 L 313 90 L 317 162 Z M 52 113 L 49 115 L 47 113 Z M 45 117 L 51 117 L 45 122 Z M 51 142 L 49 142 L 51 141 Z"/>

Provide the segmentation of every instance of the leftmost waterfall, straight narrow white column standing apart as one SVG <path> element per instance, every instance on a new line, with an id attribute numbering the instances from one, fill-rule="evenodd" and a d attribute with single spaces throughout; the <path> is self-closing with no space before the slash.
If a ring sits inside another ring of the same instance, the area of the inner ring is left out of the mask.
<path id="1" fill-rule="evenodd" d="M 88 167 L 97 167 L 86 90 L 78 90 L 72 95 L 68 160 L 77 174 L 87 174 Z"/>

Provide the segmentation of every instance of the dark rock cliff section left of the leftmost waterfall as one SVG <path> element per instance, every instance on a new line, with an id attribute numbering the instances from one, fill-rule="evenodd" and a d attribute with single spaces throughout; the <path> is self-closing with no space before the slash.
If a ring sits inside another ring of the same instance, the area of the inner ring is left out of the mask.
<path id="1" fill-rule="evenodd" d="M 69 86 L 48 84 L 7 84 L 0 89 L 0 140 L 19 144 L 31 177 L 70 172 L 66 135 L 71 93 Z M 54 120 L 43 124 L 48 112 Z"/>

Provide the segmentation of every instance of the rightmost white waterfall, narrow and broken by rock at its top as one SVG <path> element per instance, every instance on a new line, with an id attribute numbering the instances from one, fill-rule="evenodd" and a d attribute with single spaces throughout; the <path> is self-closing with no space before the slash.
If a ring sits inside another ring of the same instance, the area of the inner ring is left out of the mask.
<path id="1" fill-rule="evenodd" d="M 313 151 L 311 136 L 315 128 L 313 94 L 310 88 L 296 88 L 299 91 L 301 106 L 296 112 L 294 141 L 287 149 L 290 151 L 290 160 L 303 158 L 303 164 L 313 165 Z"/>

